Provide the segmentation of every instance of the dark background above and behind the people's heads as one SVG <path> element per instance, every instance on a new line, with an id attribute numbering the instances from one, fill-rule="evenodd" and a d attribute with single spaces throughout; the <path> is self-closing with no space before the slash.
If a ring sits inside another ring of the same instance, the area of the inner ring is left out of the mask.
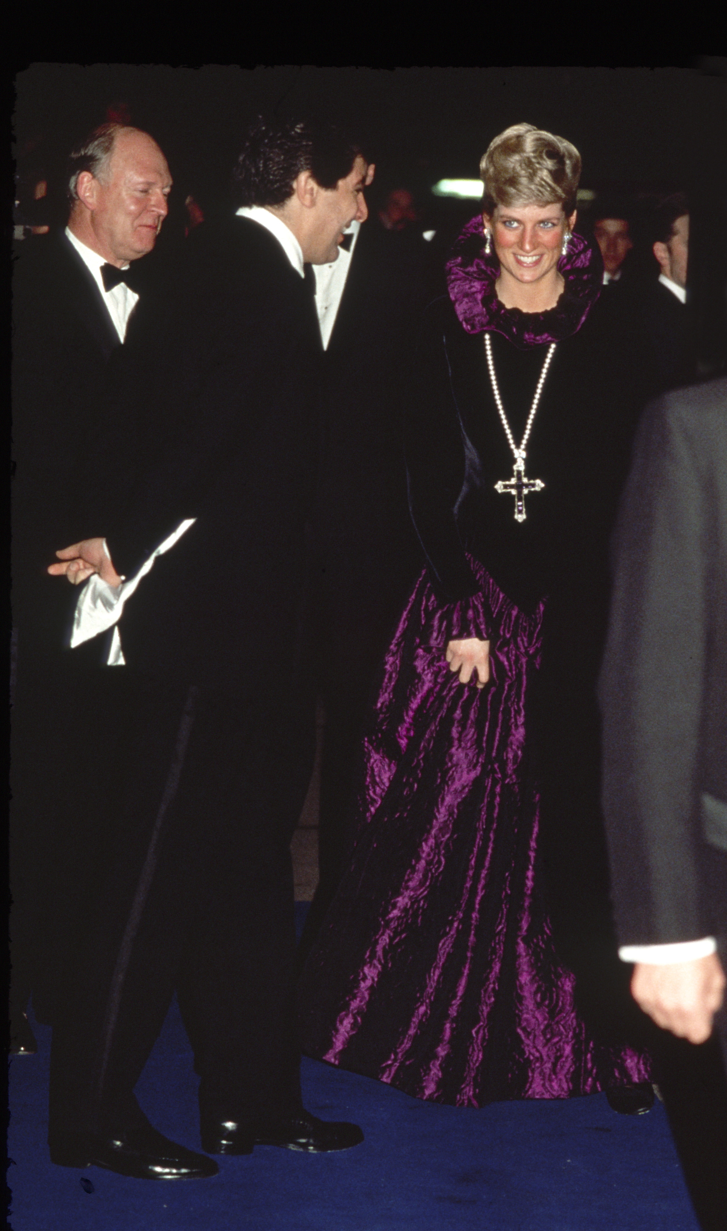
<path id="1" fill-rule="evenodd" d="M 207 64 L 33 63 L 15 78 L 15 222 L 63 225 L 64 162 L 91 128 L 114 118 L 150 132 L 172 176 L 160 257 L 185 234 L 191 194 L 205 218 L 230 209 L 229 172 L 258 111 L 317 111 L 360 134 L 376 178 L 369 206 L 406 185 L 422 229 L 449 238 L 476 202 L 433 197 L 447 177 L 477 177 L 480 156 L 509 124 L 528 121 L 581 150 L 581 187 L 602 199 L 691 198 L 690 293 L 705 353 L 725 352 L 727 283 L 727 58 L 664 68 L 316 68 Z M 47 182 L 42 199 L 38 181 Z M 578 230 L 588 225 L 579 207 Z M 16 231 L 17 234 L 17 231 Z M 648 265 L 651 244 L 643 244 Z M 656 276 L 656 265 L 652 271 Z M 713 367 L 710 361 L 707 368 Z"/>

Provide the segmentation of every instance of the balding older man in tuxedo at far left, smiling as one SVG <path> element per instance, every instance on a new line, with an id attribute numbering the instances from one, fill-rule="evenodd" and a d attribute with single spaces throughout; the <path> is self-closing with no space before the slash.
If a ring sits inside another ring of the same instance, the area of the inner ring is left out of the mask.
<path id="1" fill-rule="evenodd" d="M 31 987 L 48 1012 L 48 937 L 55 771 L 79 664 L 62 645 L 70 596 L 44 576 L 58 543 L 77 535 L 90 442 L 108 426 L 113 380 L 139 299 L 130 266 L 155 245 L 171 176 L 156 142 L 129 126 L 95 129 L 70 155 L 68 225 L 23 241 L 14 277 L 14 625 L 11 1050 L 34 1050 Z M 127 281 L 128 279 L 128 281 Z M 139 288 L 138 288 L 139 289 Z M 90 651 L 96 654 L 93 646 Z M 69 673 L 69 667 L 71 672 Z M 77 734 L 77 732 L 76 732 Z M 43 764 L 46 772 L 37 772 Z M 43 886 L 43 888 L 42 888 Z M 58 934 L 58 920 L 53 928 Z M 57 944 L 57 939 L 54 942 Z M 43 1003 L 44 1002 L 44 1003 Z"/>

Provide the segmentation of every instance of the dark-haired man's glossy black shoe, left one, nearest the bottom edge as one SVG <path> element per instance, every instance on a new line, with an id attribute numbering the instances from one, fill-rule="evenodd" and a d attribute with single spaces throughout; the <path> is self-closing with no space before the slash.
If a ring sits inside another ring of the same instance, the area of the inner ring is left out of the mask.
<path id="1" fill-rule="evenodd" d="M 105 1167 L 132 1179 L 203 1179 L 219 1171 L 207 1155 L 178 1146 L 149 1123 L 108 1135 L 54 1133 L 48 1144 L 60 1167 Z"/>

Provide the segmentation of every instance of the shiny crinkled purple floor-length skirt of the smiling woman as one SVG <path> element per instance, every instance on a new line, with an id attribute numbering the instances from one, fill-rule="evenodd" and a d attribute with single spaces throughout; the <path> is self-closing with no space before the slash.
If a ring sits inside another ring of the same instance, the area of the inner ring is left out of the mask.
<path id="1" fill-rule="evenodd" d="M 463 1107 L 648 1080 L 648 1057 L 584 1019 L 554 942 L 528 755 L 544 604 L 524 616 L 472 567 L 490 684 L 449 671 L 463 612 L 422 576 L 367 724 L 348 869 L 304 970 L 303 1050 Z"/>

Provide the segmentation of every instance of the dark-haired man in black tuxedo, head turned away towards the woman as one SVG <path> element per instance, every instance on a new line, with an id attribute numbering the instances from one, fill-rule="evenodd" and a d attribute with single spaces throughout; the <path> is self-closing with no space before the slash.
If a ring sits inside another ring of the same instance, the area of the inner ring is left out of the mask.
<path id="1" fill-rule="evenodd" d="M 49 1140 L 68 1166 L 213 1174 L 133 1088 L 176 987 L 208 1153 L 362 1140 L 303 1108 L 289 843 L 314 750 L 309 538 L 321 340 L 310 261 L 365 218 L 368 167 L 330 126 L 258 122 L 237 215 L 188 240 L 132 374 L 137 452 L 49 571 L 128 602 L 125 665 L 84 750 L 90 838 L 75 981 L 54 1019 Z M 118 467 L 117 467 L 118 469 Z M 98 506 L 101 507 L 101 506 Z M 176 540 L 175 540 L 176 537 Z M 117 571 L 118 570 L 118 571 Z M 93 616 L 85 592 L 80 622 Z M 97 627 L 97 625 L 96 625 Z M 109 746 L 108 730 L 113 734 Z"/>

